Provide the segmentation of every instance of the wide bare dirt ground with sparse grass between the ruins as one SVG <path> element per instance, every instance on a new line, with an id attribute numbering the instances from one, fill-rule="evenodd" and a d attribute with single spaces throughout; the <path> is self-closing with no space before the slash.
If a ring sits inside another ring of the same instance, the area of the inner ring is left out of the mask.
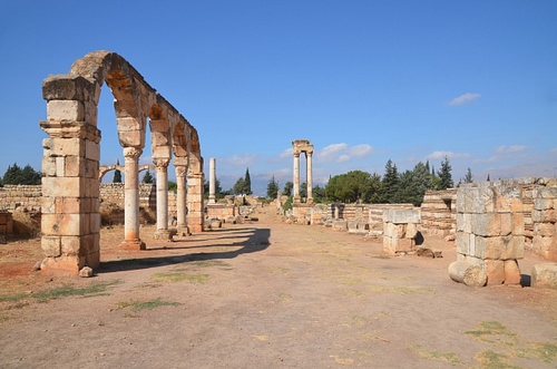
<path id="1" fill-rule="evenodd" d="M 38 242 L 0 245 L 0 367 L 556 367 L 556 291 L 455 283 L 439 240 L 426 244 L 443 259 L 387 258 L 360 235 L 256 215 L 173 243 L 143 229 L 144 252 L 104 230 L 92 279 L 30 272 Z"/>

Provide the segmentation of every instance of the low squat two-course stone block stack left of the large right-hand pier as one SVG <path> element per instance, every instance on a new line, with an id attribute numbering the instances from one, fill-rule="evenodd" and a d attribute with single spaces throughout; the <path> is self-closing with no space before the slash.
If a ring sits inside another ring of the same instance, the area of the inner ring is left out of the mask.
<path id="1" fill-rule="evenodd" d="M 385 210 L 383 212 L 383 251 L 388 254 L 413 251 L 419 224 L 419 208 Z"/>

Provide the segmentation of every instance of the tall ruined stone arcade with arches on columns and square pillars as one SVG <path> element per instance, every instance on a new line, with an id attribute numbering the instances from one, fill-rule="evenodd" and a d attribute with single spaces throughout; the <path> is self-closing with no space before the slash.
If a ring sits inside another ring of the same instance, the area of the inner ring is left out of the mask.
<path id="1" fill-rule="evenodd" d="M 99 264 L 97 105 L 104 84 L 114 96 L 118 139 L 125 157 L 126 219 L 121 247 L 145 247 L 139 237 L 138 159 L 145 147 L 147 118 L 157 181 L 167 182 L 166 168 L 174 154 L 176 172 L 182 174 L 178 182 L 187 173 L 192 192 L 192 198 L 189 192 L 187 196 L 192 205 L 186 221 L 185 184 L 178 183 L 178 191 L 180 187 L 184 191 L 178 195 L 184 202 L 183 226 L 194 232 L 203 230 L 203 157 L 196 129 L 123 57 L 94 51 L 78 59 L 69 74 L 47 77 L 42 84 L 47 120 L 40 122 L 40 127 L 49 136 L 42 143 L 41 246 L 46 259 L 41 270 L 46 273 L 77 274 L 84 266 L 95 269 Z M 160 196 L 164 206 L 167 201 L 164 194 Z M 157 232 L 164 233 L 167 222 L 163 224 L 162 217 L 157 214 Z"/>

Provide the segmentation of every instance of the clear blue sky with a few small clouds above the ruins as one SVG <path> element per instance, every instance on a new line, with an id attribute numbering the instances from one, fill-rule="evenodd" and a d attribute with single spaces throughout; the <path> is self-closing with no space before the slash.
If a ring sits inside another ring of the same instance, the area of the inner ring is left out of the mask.
<path id="1" fill-rule="evenodd" d="M 321 185 L 446 155 L 456 182 L 555 177 L 556 17 L 554 0 L 2 1 L 0 175 L 40 169 L 42 80 L 110 50 L 197 128 L 224 190 L 246 168 L 262 195 L 292 181 L 300 138 Z M 101 164 L 124 162 L 115 122 L 105 87 Z"/>

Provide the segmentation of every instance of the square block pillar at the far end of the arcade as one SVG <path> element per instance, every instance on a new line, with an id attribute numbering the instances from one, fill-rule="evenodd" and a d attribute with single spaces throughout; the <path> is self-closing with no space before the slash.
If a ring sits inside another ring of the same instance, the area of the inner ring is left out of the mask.
<path id="1" fill-rule="evenodd" d="M 187 174 L 187 225 L 192 233 L 203 232 L 203 159 L 192 158 Z"/>

